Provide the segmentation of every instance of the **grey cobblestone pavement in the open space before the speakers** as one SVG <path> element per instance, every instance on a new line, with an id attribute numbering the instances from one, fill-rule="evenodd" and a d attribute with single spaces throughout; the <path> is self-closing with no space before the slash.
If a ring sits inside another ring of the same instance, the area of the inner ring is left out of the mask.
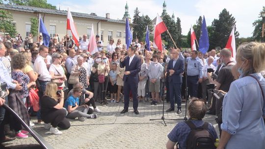
<path id="1" fill-rule="evenodd" d="M 97 119 L 87 119 L 84 122 L 70 120 L 71 127 L 62 130 L 62 135 L 52 135 L 44 129 L 43 124 L 36 124 L 34 130 L 38 132 L 54 149 L 165 149 L 168 140 L 167 134 L 182 120 L 150 121 L 161 118 L 162 102 L 157 106 L 150 102 L 139 102 L 139 115 L 133 113 L 132 102 L 129 112 L 120 114 L 123 103 L 109 103 L 108 106 L 98 106 L 103 112 L 98 113 Z M 165 103 L 165 110 L 170 106 Z M 182 104 L 182 114 L 175 112 L 166 113 L 168 119 L 183 119 L 185 116 L 185 103 Z M 215 117 L 206 115 L 204 121 L 214 125 L 218 133 Z M 36 118 L 32 118 L 36 122 Z M 16 139 L 5 143 L 12 149 L 40 149 L 38 142 L 29 135 L 27 139 Z"/>

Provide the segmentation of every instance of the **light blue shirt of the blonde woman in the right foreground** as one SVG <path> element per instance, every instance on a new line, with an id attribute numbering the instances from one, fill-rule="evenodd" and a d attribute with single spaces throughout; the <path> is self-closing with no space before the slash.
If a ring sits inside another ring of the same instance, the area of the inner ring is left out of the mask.
<path id="1" fill-rule="evenodd" d="M 254 75 L 265 92 L 265 78 Z M 230 85 L 223 100 L 223 124 L 221 129 L 232 136 L 226 149 L 264 149 L 265 147 L 265 102 L 256 79 L 245 76 Z"/>

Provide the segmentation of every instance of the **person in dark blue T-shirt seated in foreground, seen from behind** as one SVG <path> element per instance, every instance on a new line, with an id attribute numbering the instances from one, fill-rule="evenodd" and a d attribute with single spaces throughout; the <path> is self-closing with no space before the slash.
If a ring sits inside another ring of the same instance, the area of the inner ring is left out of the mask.
<path id="1" fill-rule="evenodd" d="M 208 125 L 207 133 L 209 136 L 211 136 L 212 146 L 214 146 L 213 143 L 215 142 L 215 139 L 218 138 L 215 129 L 211 123 L 206 123 L 202 121 L 206 111 L 207 107 L 203 100 L 197 98 L 191 98 L 188 104 L 189 120 L 178 123 L 173 128 L 173 130 L 167 135 L 169 140 L 166 144 L 166 148 L 174 149 L 174 146 L 177 143 L 179 144 L 179 149 L 186 149 L 189 145 L 191 145 L 191 143 L 188 142 L 188 140 L 190 139 L 190 134 L 191 134 L 190 132 L 194 129 L 191 129 L 189 125 L 193 125 L 195 129 L 198 127 L 204 128 L 204 126 Z"/>

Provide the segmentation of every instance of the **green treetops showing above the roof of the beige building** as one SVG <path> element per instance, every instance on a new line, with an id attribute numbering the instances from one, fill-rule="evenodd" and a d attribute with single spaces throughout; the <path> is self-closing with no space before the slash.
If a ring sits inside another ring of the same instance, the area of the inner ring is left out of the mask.
<path id="1" fill-rule="evenodd" d="M 7 1 L 7 3 L 10 5 L 26 5 L 26 6 L 33 6 L 39 8 L 56 9 L 56 6 L 47 3 L 47 0 L 4 0 L 4 1 Z"/>

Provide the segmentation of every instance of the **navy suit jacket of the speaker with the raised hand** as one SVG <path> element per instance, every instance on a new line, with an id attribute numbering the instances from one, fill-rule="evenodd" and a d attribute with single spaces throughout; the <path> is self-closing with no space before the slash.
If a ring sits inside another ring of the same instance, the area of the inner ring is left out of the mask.
<path id="1" fill-rule="evenodd" d="M 134 55 L 131 64 L 129 65 L 130 57 L 125 57 L 124 61 L 120 62 L 120 67 L 125 67 L 125 72 L 130 71 L 130 75 L 123 75 L 123 81 L 129 83 L 137 83 L 139 82 L 138 73 L 141 71 L 141 59 Z"/>

